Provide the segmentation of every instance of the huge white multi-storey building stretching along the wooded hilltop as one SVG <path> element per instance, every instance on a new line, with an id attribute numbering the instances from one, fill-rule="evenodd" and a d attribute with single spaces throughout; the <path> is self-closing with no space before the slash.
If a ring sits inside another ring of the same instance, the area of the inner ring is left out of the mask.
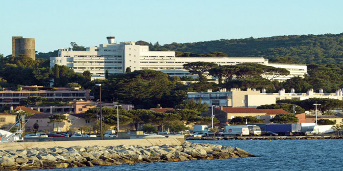
<path id="1" fill-rule="evenodd" d="M 75 72 L 90 71 L 92 78 L 104 78 L 105 71 L 124 73 L 126 68 L 131 71 L 152 69 L 162 71 L 170 76 L 197 77 L 183 69 L 183 64 L 192 62 L 213 62 L 221 65 L 241 63 L 257 63 L 289 70 L 289 76 L 281 76 L 275 80 L 285 80 L 291 77 L 303 77 L 307 73 L 306 65 L 269 64 L 262 57 L 175 57 L 173 51 L 149 51 L 146 45 L 136 45 L 135 42 L 114 43 L 114 37 L 107 37 L 108 44 L 99 47 L 87 47 L 86 51 L 70 51 L 69 48 L 58 49 L 58 57 L 50 57 L 50 67 L 55 64 L 67 65 Z"/>

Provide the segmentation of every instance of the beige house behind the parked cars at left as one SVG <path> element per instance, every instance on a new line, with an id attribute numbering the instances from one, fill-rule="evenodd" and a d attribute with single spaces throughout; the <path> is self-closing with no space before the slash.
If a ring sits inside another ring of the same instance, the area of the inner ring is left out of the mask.
<path id="1" fill-rule="evenodd" d="M 38 126 L 38 130 L 48 130 L 48 131 L 69 131 L 69 130 L 77 130 L 83 126 L 91 126 L 91 122 L 85 119 L 85 113 L 79 114 L 68 114 L 65 113 L 63 115 L 66 116 L 67 120 L 62 121 L 59 123 L 59 130 L 57 130 L 58 124 L 57 123 L 49 123 L 49 117 L 54 114 L 34 114 L 25 118 L 25 129 L 27 131 L 32 131 L 36 126 Z"/>

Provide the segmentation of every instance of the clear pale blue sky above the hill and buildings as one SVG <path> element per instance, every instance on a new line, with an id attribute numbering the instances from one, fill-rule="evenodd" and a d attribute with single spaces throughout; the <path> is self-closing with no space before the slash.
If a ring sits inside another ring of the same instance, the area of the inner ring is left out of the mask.
<path id="1" fill-rule="evenodd" d="M 0 0 L 0 54 L 116 41 L 188 43 L 343 32 L 343 0 Z"/>

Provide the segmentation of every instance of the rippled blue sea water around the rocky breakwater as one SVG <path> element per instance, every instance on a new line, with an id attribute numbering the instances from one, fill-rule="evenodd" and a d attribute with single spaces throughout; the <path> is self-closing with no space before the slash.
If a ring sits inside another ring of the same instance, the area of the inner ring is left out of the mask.
<path id="1" fill-rule="evenodd" d="M 238 147 L 258 157 L 68 168 L 51 171 L 343 171 L 343 140 L 191 142 Z"/>

